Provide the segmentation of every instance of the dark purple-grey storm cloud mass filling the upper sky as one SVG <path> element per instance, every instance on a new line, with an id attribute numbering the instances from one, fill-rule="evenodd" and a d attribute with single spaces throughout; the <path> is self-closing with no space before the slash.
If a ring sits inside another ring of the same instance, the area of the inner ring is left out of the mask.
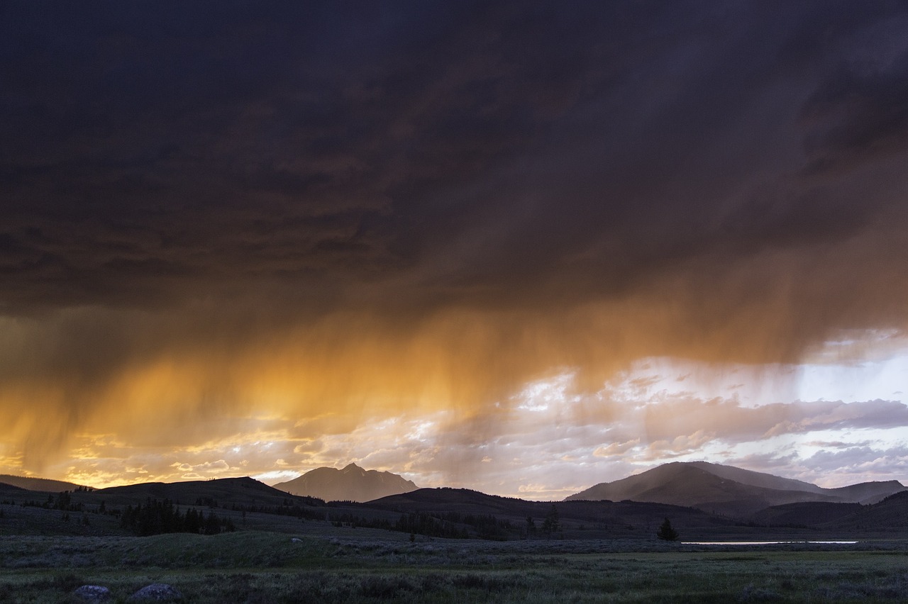
<path id="1" fill-rule="evenodd" d="M 908 55 L 893 35 L 874 43 L 884 64 L 855 52 L 901 19 L 6 3 L 4 303 L 141 306 L 417 265 L 442 297 L 598 297 L 742 242 L 847 237 L 885 200 L 786 174 L 903 151 Z M 807 130 L 786 132 L 798 116 Z"/>

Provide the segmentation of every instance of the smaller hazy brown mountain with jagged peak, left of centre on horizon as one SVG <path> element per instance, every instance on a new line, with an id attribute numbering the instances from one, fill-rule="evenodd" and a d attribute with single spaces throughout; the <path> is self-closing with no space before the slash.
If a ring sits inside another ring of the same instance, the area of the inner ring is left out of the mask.
<path id="1" fill-rule="evenodd" d="M 318 497 L 326 502 L 370 502 L 388 495 L 416 491 L 418 487 L 397 474 L 363 470 L 350 463 L 341 470 L 316 468 L 291 481 L 279 482 L 274 488 L 294 495 Z"/>

